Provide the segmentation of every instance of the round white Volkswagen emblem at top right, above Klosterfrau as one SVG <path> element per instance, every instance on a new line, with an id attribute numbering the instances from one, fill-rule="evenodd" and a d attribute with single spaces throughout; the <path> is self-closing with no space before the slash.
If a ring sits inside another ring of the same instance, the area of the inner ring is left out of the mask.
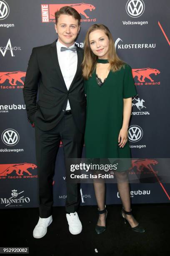
<path id="1" fill-rule="evenodd" d="M 126 4 L 126 12 L 132 18 L 140 17 L 145 10 L 143 0 L 129 0 Z"/>

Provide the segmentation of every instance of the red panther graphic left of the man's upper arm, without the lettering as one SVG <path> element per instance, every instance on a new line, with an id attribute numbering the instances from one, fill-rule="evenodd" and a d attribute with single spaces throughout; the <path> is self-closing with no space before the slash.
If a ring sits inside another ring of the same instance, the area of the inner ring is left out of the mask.
<path id="1" fill-rule="evenodd" d="M 7 80 L 11 85 L 17 85 L 18 82 L 24 85 L 21 80 L 22 77 L 26 76 L 26 72 L 14 71 L 14 72 L 0 72 L 0 84 L 5 83 Z"/>

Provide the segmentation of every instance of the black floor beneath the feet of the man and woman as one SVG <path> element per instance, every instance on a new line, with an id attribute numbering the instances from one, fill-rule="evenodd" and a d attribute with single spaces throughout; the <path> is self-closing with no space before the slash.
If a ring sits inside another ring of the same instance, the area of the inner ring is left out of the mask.
<path id="1" fill-rule="evenodd" d="M 71 235 L 65 216 L 65 207 L 53 207 L 53 222 L 47 234 L 40 239 L 32 236 L 38 221 L 37 208 L 0 211 L 0 247 L 29 247 L 30 255 L 116 255 L 166 256 L 170 255 L 170 205 L 132 205 L 133 215 L 145 227 L 145 233 L 136 233 L 120 217 L 121 205 L 107 205 L 107 229 L 95 233 L 96 206 L 82 206 L 79 218 L 82 232 Z M 98 252 L 95 252 L 97 249 Z"/>

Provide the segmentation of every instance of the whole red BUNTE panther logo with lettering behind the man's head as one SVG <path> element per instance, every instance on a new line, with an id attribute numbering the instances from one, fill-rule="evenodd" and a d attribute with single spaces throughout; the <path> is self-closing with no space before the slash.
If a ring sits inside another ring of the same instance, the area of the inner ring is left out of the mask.
<path id="1" fill-rule="evenodd" d="M 42 22 L 55 22 L 55 12 L 60 10 L 63 6 L 70 6 L 77 10 L 80 15 L 85 16 L 85 19 L 81 19 L 81 22 L 96 21 L 96 18 L 89 18 L 85 13 L 85 10 L 95 10 L 95 6 L 86 3 L 75 3 L 75 4 L 42 4 L 41 14 Z"/>

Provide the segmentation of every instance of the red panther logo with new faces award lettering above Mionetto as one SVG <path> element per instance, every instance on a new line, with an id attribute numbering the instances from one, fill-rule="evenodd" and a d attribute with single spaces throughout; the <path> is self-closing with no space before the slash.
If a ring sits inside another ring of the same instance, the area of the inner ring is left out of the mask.
<path id="1" fill-rule="evenodd" d="M 9 174 L 11 175 L 18 175 L 20 178 L 25 174 L 28 174 L 29 176 L 31 175 L 32 177 L 29 178 L 34 178 L 37 177 L 37 175 L 32 175 L 28 169 L 31 168 L 36 169 L 37 166 L 35 164 L 28 164 L 28 163 L 21 163 L 21 164 L 0 164 L 0 176 L 8 176 Z M 15 176 L 8 176 L 9 178 L 13 178 Z M 28 176 L 24 176 L 28 177 Z"/>

